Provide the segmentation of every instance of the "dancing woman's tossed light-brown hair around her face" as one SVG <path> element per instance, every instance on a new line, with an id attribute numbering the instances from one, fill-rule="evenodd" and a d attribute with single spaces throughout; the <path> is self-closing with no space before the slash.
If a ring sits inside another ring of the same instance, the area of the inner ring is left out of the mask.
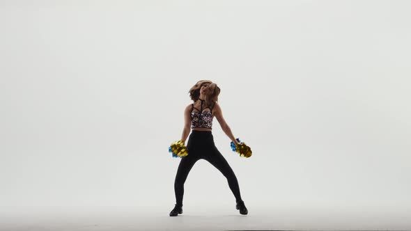
<path id="1" fill-rule="evenodd" d="M 216 83 L 213 83 L 210 80 L 200 80 L 198 81 L 192 88 L 189 89 L 189 97 L 196 102 L 199 100 L 200 97 L 200 89 L 201 86 L 204 84 L 208 83 L 208 87 L 206 90 L 206 106 L 211 106 L 215 104 L 215 102 L 218 102 L 218 95 L 220 93 L 220 88 L 217 86 Z"/>

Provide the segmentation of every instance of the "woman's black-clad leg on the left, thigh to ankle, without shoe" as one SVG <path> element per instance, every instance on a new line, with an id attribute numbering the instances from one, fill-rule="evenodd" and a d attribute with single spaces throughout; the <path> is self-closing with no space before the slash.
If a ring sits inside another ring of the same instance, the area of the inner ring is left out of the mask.
<path id="1" fill-rule="evenodd" d="M 178 165 L 176 180 L 174 181 L 174 192 L 176 193 L 176 205 L 183 206 L 184 183 L 187 180 L 189 171 L 199 158 L 194 153 L 183 157 Z"/>

